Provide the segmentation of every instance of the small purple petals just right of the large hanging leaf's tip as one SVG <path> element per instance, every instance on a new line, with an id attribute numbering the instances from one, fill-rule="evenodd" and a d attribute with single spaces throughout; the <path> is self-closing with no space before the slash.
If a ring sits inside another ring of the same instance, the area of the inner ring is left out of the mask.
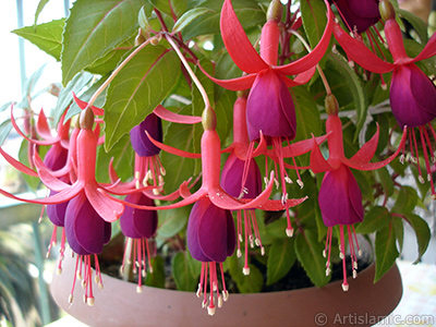
<path id="1" fill-rule="evenodd" d="M 161 119 L 152 112 L 143 122 L 130 131 L 130 140 L 136 154 L 141 157 L 156 156 L 159 154 L 160 148 L 149 141 L 145 131 L 147 131 L 154 140 L 162 142 Z"/>

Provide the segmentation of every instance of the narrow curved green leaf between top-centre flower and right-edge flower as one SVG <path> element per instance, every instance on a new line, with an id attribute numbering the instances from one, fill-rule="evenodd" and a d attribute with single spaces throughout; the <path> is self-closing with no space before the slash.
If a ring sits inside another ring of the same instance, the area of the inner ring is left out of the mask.
<path id="1" fill-rule="evenodd" d="M 349 93 L 353 96 L 354 100 L 353 109 L 356 110 L 356 116 L 358 116 L 358 122 L 355 124 L 356 130 L 354 134 L 354 138 L 356 138 L 366 120 L 368 104 L 367 104 L 365 88 L 363 87 L 360 78 L 350 68 L 346 59 L 332 52 L 328 53 L 327 57 L 328 57 L 328 62 L 334 65 L 335 70 L 337 70 L 337 73 L 344 78 L 344 83 L 347 83 L 347 85 L 349 86 Z"/>

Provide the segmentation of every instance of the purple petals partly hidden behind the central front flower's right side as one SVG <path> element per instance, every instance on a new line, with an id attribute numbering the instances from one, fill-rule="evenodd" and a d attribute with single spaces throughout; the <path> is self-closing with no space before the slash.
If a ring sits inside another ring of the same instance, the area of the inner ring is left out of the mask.
<path id="1" fill-rule="evenodd" d="M 255 198 L 262 192 L 262 174 L 256 160 L 251 159 L 245 184 L 242 185 L 245 161 L 231 153 L 221 171 L 221 186 L 231 196 L 238 197 L 243 187 L 244 198 Z"/>

